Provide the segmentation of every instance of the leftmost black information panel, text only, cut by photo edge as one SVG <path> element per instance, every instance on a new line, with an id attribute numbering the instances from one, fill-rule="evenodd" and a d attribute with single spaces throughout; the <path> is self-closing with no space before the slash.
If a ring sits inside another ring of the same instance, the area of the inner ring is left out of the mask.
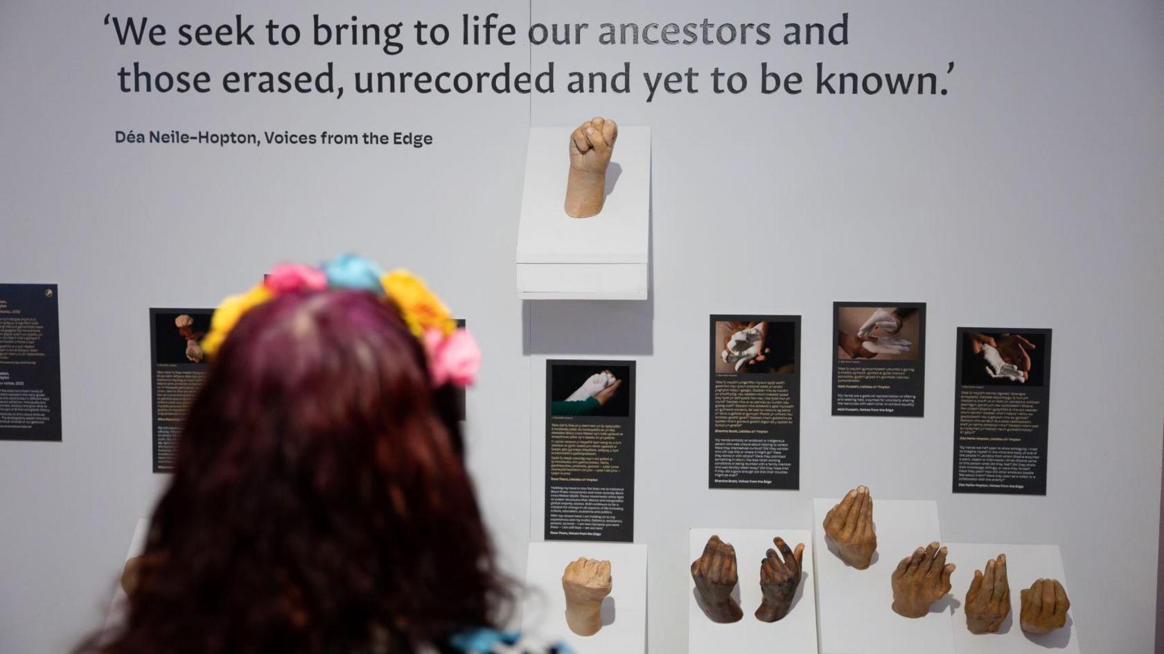
<path id="1" fill-rule="evenodd" d="M 56 284 L 0 284 L 0 440 L 61 440 Z"/>

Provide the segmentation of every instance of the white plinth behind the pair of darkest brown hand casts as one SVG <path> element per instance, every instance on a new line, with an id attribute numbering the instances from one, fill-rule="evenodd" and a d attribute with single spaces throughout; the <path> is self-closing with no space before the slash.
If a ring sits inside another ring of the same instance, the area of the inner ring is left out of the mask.
<path id="1" fill-rule="evenodd" d="M 739 605 L 744 619 L 732 624 L 717 624 L 708 619 L 695 598 L 695 582 L 688 577 L 687 651 L 689 654 L 719 654 L 722 652 L 769 652 L 779 644 L 780 652 L 816 652 L 816 580 L 812 571 L 812 538 L 807 529 L 691 529 L 690 561 L 703 554 L 708 539 L 718 534 L 736 548 L 739 570 Z M 755 619 L 760 605 L 760 561 L 768 549 L 775 549 L 772 539 L 780 536 L 789 548 L 804 543 L 803 574 L 796 589 L 793 607 L 775 623 Z M 688 563 L 690 563 L 690 561 Z"/>

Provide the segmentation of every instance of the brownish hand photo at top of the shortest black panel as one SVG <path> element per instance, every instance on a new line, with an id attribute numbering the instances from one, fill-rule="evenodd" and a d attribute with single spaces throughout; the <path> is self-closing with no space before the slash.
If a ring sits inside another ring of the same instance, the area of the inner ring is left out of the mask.
<path id="1" fill-rule="evenodd" d="M 845 306 L 838 310 L 840 358 L 914 360 L 918 340 L 914 308 Z"/>

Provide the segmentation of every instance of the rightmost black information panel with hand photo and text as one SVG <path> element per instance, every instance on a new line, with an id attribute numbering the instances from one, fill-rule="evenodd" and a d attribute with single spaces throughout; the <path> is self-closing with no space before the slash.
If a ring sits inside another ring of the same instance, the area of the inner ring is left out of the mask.
<path id="1" fill-rule="evenodd" d="M 953 492 L 1046 495 L 1050 329 L 958 328 Z"/>

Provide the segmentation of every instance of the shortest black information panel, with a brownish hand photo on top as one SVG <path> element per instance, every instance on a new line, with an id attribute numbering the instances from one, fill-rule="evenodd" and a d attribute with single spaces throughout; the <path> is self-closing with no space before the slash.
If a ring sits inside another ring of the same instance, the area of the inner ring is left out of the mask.
<path id="1" fill-rule="evenodd" d="M 832 303 L 832 414 L 925 414 L 925 303 Z"/>

